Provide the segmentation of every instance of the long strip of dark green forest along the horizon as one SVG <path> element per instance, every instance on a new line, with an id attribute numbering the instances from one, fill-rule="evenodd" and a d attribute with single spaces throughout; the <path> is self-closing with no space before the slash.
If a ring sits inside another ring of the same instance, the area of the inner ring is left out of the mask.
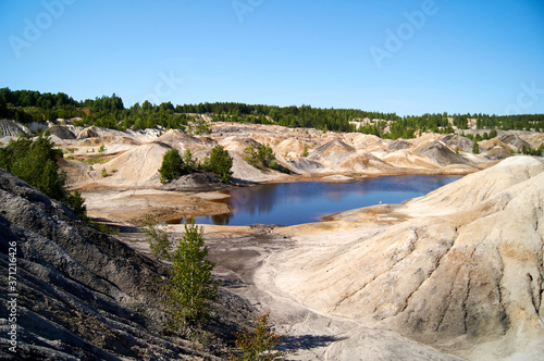
<path id="1" fill-rule="evenodd" d="M 332 132 L 361 132 L 383 138 L 412 138 L 415 133 L 453 133 L 448 117 L 460 129 L 469 128 L 468 120 L 475 120 L 479 129 L 544 130 L 544 114 L 423 114 L 399 116 L 395 113 L 371 112 L 357 109 L 322 109 L 310 105 L 250 105 L 236 102 L 215 102 L 174 105 L 172 102 L 151 104 L 149 101 L 125 108 L 115 94 L 84 101 L 74 100 L 63 92 L 0 89 L 0 119 L 28 124 L 55 119 L 81 117 L 74 125 L 100 126 L 125 130 L 162 126 L 207 133 L 206 125 L 189 128 L 197 114 L 208 114 L 214 122 L 277 124 Z M 353 122 L 363 119 L 380 120 L 357 127 Z M 198 122 L 197 122 L 198 123 Z"/>

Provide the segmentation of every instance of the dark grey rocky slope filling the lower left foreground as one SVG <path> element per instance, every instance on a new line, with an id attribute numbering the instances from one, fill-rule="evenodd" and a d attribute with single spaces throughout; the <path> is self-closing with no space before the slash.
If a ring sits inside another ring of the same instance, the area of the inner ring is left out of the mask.
<path id="1" fill-rule="evenodd" d="M 18 294 L 20 341 L 16 354 L 7 351 L 10 324 L 1 320 L 2 357 L 215 359 L 187 340 L 166 336 L 159 302 L 164 266 L 1 169 L 0 229 L 3 277 L 13 263 L 10 247 L 16 248 L 16 287 L 10 294 Z M 3 306 L 12 299 L 5 287 L 0 299 Z"/>

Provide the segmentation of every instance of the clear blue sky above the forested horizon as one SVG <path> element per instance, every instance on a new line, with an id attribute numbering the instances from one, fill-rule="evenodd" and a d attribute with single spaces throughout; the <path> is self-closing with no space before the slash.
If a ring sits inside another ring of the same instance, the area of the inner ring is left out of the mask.
<path id="1" fill-rule="evenodd" d="M 544 113 L 544 1 L 0 0 L 0 87 Z"/>

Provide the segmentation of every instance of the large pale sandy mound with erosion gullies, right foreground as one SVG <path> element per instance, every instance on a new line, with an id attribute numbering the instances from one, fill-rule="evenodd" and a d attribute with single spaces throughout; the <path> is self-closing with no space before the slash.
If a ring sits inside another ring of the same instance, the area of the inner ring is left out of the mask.
<path id="1" fill-rule="evenodd" d="M 512 157 L 403 206 L 359 213 L 378 208 L 394 221 L 376 228 L 370 215 L 373 231 L 362 227 L 351 241 L 296 250 L 299 261 L 275 284 L 310 309 L 471 360 L 542 359 L 541 160 Z"/>

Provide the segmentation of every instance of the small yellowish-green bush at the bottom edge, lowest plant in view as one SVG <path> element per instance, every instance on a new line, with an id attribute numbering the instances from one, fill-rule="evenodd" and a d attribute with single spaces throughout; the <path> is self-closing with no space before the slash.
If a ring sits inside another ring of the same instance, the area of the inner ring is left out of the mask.
<path id="1" fill-rule="evenodd" d="M 237 333 L 236 346 L 243 354 L 231 354 L 231 361 L 269 361 L 284 356 L 284 352 L 273 351 L 280 345 L 280 335 L 270 331 L 268 325 L 270 313 L 259 318 L 259 323 L 252 333 Z"/>

